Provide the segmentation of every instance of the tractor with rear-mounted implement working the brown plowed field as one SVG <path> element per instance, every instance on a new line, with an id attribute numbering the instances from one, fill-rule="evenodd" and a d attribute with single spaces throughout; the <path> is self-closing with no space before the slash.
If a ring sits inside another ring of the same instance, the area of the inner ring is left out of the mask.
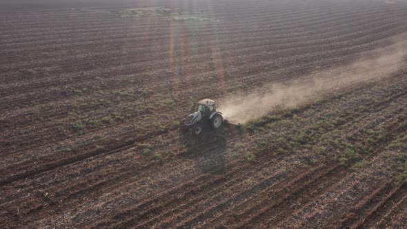
<path id="1" fill-rule="evenodd" d="M 221 128 L 223 123 L 237 126 L 241 130 L 241 124 L 232 124 L 224 119 L 222 113 L 216 110 L 216 103 L 212 99 L 203 99 L 193 103 L 191 108 L 192 114 L 179 123 L 181 132 L 188 132 L 192 129 L 193 135 L 201 135 L 203 128 L 210 127 L 212 130 Z"/>

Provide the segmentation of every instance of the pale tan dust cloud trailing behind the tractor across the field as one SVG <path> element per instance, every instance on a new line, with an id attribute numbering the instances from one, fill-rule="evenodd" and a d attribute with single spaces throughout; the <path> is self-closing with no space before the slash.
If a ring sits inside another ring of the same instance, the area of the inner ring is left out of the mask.
<path id="1" fill-rule="evenodd" d="M 377 81 L 407 66 L 406 34 L 393 38 L 393 44 L 364 54 L 354 63 L 340 68 L 330 68 L 305 77 L 302 82 L 289 85 L 272 84 L 264 92 L 220 99 L 219 110 L 226 119 L 246 123 L 262 117 L 272 110 L 301 106 L 329 96 L 358 83 Z"/>

